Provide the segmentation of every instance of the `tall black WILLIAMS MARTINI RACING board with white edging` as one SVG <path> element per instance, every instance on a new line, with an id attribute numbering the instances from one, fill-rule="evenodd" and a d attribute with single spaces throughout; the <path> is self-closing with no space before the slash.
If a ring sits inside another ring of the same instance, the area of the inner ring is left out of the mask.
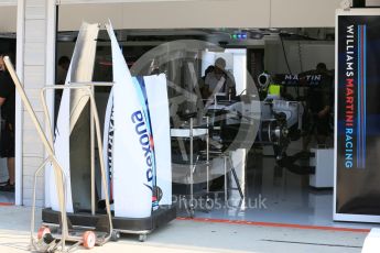
<path id="1" fill-rule="evenodd" d="M 380 11 L 336 24 L 335 220 L 380 221 Z"/>

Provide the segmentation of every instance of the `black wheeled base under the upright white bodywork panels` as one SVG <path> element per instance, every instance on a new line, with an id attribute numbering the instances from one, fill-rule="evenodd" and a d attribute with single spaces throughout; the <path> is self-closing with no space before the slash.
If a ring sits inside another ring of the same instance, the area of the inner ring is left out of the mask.
<path id="1" fill-rule="evenodd" d="M 112 213 L 113 215 L 113 213 Z M 42 210 L 42 222 L 47 227 L 59 227 L 59 212 L 53 211 L 51 208 Z M 120 233 L 138 234 L 139 241 L 146 240 L 146 235 L 155 229 L 163 227 L 176 218 L 176 208 L 174 206 L 160 206 L 148 218 L 120 218 L 112 216 L 112 237 L 111 240 L 117 241 Z M 87 211 L 67 213 L 69 227 L 96 228 L 97 230 L 107 231 L 108 216 L 106 213 L 96 213 L 93 216 Z"/>

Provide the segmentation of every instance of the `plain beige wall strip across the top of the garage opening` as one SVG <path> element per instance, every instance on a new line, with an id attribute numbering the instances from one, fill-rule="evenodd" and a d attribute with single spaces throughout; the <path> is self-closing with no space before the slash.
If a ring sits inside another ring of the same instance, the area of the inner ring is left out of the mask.
<path id="1" fill-rule="evenodd" d="M 59 2 L 59 30 L 72 31 L 77 30 L 83 20 L 106 22 L 108 19 L 112 20 L 117 29 L 333 28 L 335 10 L 340 7 L 341 0 L 61 0 Z"/>

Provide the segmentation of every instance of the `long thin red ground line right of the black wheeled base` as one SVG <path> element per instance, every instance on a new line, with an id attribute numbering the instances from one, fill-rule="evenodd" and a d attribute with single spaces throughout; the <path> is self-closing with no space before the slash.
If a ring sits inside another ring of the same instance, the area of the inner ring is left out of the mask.
<path id="1" fill-rule="evenodd" d="M 246 220 L 224 220 L 224 219 L 207 219 L 207 218 L 177 218 L 176 220 L 188 220 L 195 222 L 210 222 L 210 223 L 227 223 L 227 224 L 247 224 L 257 227 L 272 227 L 272 228 L 287 228 L 287 229 L 308 229 L 308 230 L 324 230 L 324 231 L 339 231 L 339 232 L 357 232 L 369 233 L 370 229 L 350 229 L 350 228 L 335 228 L 324 226 L 304 226 L 292 223 L 275 223 L 275 222 L 258 222 Z"/>

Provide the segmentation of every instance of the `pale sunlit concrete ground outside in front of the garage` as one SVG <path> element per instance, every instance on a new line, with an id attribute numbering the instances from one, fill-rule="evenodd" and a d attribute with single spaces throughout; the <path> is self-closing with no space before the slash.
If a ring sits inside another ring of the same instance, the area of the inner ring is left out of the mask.
<path id="1" fill-rule="evenodd" d="M 0 252 L 26 251 L 30 215 L 30 208 L 0 207 Z M 37 210 L 35 228 L 40 221 Z M 119 242 L 107 243 L 91 252 L 359 253 L 367 233 L 174 220 L 148 235 L 144 243 L 140 243 L 137 235 L 123 234 Z M 88 251 L 79 249 L 78 252 Z"/>

